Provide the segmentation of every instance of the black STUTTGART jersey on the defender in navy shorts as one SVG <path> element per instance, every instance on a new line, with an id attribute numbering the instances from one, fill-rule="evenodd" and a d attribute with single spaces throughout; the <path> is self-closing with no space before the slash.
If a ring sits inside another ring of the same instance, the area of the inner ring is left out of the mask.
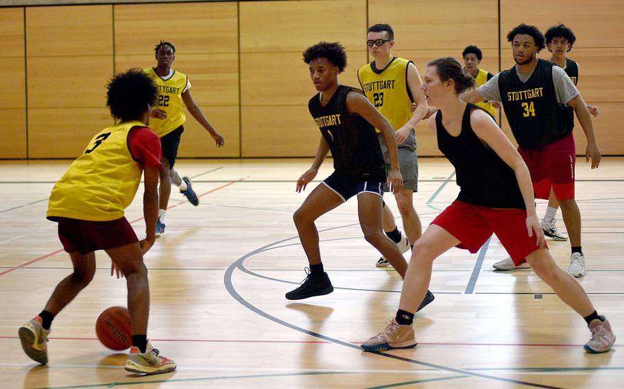
<path id="1" fill-rule="evenodd" d="M 385 181 L 385 163 L 375 127 L 347 110 L 347 95 L 363 92 L 350 86 L 338 89 L 324 107 L 320 93 L 308 103 L 310 114 L 327 141 L 337 173 L 363 181 Z"/>

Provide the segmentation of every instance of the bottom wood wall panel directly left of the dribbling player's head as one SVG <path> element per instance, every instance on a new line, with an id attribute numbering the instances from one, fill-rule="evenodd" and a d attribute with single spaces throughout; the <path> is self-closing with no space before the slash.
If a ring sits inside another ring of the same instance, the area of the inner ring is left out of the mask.
<path id="1" fill-rule="evenodd" d="M 30 108 L 28 140 L 30 158 L 77 158 L 102 129 L 113 121 L 101 108 Z"/>

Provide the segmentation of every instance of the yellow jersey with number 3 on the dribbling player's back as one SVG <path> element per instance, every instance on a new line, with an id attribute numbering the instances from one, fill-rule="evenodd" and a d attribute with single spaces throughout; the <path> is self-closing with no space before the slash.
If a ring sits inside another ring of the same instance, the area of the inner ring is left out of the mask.
<path id="1" fill-rule="evenodd" d="M 127 121 L 107 127 L 91 139 L 50 194 L 46 216 L 112 221 L 134 199 L 143 168 L 128 149 L 128 132 L 145 124 Z"/>

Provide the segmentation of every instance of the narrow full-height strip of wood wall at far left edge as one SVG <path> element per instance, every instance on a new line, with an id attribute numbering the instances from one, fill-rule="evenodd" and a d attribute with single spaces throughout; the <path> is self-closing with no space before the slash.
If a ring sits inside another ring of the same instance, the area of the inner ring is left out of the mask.
<path id="1" fill-rule="evenodd" d="M 0 50 L 0 158 L 27 158 L 23 8 L 0 8 Z"/>

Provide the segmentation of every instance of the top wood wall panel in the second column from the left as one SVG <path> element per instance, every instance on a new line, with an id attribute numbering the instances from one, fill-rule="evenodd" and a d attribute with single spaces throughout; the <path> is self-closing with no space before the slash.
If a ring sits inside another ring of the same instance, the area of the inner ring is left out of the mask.
<path id="1" fill-rule="evenodd" d="M 26 26 L 29 58 L 112 55 L 112 5 L 29 7 Z"/>

